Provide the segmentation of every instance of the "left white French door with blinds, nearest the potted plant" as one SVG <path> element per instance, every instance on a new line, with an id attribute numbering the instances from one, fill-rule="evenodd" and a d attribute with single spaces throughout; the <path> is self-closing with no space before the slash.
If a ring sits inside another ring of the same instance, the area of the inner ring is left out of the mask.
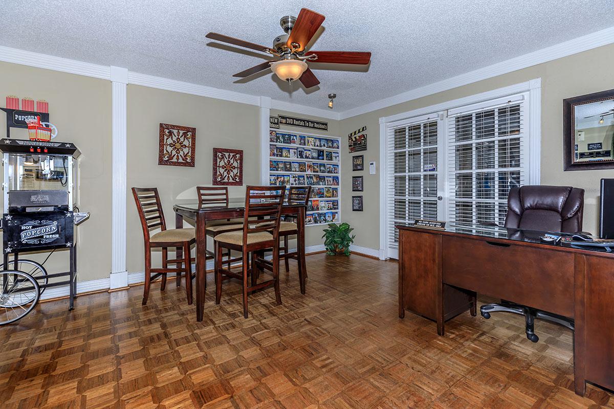
<path id="1" fill-rule="evenodd" d="M 437 220 L 438 118 L 387 128 L 387 247 L 398 249 L 395 225 Z"/>

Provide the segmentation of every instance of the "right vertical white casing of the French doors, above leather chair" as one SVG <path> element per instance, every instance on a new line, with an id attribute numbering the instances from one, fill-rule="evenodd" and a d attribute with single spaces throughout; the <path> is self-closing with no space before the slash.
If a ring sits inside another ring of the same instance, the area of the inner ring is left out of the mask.
<path id="1" fill-rule="evenodd" d="M 529 184 L 541 185 L 542 78 L 529 81 Z"/>

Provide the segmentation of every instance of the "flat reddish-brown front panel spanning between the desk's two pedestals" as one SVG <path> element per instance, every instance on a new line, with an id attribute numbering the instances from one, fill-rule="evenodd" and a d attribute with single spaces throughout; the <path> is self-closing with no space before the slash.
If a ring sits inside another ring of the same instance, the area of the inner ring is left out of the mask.
<path id="1" fill-rule="evenodd" d="M 573 254 L 443 237 L 443 282 L 573 317 Z"/>

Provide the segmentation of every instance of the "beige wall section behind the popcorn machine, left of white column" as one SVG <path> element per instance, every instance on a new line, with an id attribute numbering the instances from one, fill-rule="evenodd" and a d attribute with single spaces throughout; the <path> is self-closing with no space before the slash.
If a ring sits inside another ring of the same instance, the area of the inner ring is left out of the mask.
<path id="1" fill-rule="evenodd" d="M 109 277 L 111 272 L 111 82 L 63 72 L 0 63 L 0 104 L 15 95 L 45 99 L 50 121 L 58 128 L 56 140 L 73 142 L 79 158 L 79 208 L 91 212 L 79 227 L 77 270 L 79 281 Z M 6 115 L 0 113 L 0 135 L 5 137 Z M 28 139 L 25 129 L 11 136 Z M 1 200 L 1 199 L 0 199 Z M 28 258 L 41 261 L 45 254 Z M 68 253 L 55 251 L 45 264 L 50 273 L 68 270 Z"/>

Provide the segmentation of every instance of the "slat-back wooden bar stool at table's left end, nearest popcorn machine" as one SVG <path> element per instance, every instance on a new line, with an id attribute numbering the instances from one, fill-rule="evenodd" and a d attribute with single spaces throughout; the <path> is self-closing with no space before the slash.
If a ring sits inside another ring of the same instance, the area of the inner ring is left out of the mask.
<path id="1" fill-rule="evenodd" d="M 196 243 L 194 229 L 166 229 L 164 213 L 160 204 L 160 195 L 157 188 L 132 188 L 136 208 L 139 211 L 141 218 L 141 226 L 143 228 L 143 238 L 145 240 L 145 288 L 143 290 L 142 305 L 147 304 L 149 297 L 149 287 L 151 280 L 162 277 L 160 291 L 166 288 L 167 273 L 177 274 L 177 287 L 181 283 L 181 273 L 185 272 L 185 292 L 187 294 L 188 304 L 192 304 L 192 261 L 190 258 L 190 246 Z M 160 231 L 150 235 L 150 230 L 158 229 Z M 168 259 L 168 248 L 181 248 L 183 258 Z M 162 268 L 152 269 L 151 249 L 162 249 Z M 169 263 L 175 263 L 176 268 L 168 267 Z M 183 265 L 184 267 L 180 267 Z M 151 277 L 151 275 L 153 277 Z"/>

